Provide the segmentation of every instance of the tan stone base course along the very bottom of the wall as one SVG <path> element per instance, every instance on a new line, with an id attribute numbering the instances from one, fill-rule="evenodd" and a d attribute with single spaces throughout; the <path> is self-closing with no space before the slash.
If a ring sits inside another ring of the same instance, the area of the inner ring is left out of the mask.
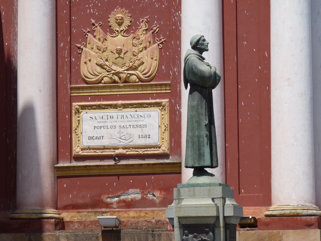
<path id="1" fill-rule="evenodd" d="M 117 231 L 117 230 L 115 230 Z M 0 234 L 0 241 L 174 241 L 174 233 L 165 230 L 118 230 L 119 232 L 75 232 L 44 234 Z M 120 236 L 120 239 L 119 239 Z M 321 231 L 312 230 L 258 230 L 237 231 L 237 241 L 320 241 Z"/>

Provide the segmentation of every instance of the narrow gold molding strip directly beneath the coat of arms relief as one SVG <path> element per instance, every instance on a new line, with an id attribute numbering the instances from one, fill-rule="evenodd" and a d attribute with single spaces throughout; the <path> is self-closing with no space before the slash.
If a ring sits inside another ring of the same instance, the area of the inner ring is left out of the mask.
<path id="1" fill-rule="evenodd" d="M 146 93 L 170 93 L 170 82 L 70 86 L 71 96 Z"/>

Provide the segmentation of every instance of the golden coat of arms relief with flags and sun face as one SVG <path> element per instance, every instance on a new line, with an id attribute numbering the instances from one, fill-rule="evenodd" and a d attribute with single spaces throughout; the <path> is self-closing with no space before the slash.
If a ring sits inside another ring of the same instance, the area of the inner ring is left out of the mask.
<path id="1" fill-rule="evenodd" d="M 75 44 L 81 57 L 81 75 L 89 84 L 138 83 L 151 81 L 158 67 L 159 49 L 165 40 L 163 37 L 153 40 L 159 31 L 153 25 L 149 32 L 149 16 L 141 20 L 137 31 L 127 35 L 126 30 L 132 19 L 129 12 L 118 8 L 109 15 L 109 27 L 113 34 L 101 30 L 102 23 L 91 19 L 94 35 L 90 30 L 83 30 L 87 45 Z M 86 46 L 86 47 L 85 47 Z"/>

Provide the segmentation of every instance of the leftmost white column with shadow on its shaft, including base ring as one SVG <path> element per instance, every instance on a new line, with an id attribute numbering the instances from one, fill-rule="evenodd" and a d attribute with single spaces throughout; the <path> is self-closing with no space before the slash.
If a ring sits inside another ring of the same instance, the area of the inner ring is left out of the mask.
<path id="1" fill-rule="evenodd" d="M 17 210 L 12 219 L 62 219 L 56 211 L 55 0 L 18 1 Z"/>

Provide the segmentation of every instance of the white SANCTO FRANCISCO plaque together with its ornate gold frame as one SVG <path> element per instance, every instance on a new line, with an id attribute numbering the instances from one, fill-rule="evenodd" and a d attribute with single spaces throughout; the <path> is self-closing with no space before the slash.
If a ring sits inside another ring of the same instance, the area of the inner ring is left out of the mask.
<path id="1" fill-rule="evenodd" d="M 73 104 L 73 156 L 169 154 L 168 100 Z"/>

